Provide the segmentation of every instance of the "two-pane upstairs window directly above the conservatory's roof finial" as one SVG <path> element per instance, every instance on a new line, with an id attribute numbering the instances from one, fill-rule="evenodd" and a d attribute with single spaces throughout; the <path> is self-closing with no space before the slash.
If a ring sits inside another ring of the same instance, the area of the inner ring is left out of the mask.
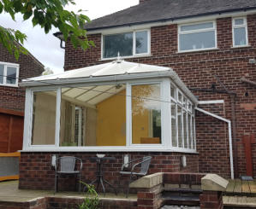
<path id="1" fill-rule="evenodd" d="M 125 32 L 103 36 L 103 58 L 149 54 L 149 31 Z"/>

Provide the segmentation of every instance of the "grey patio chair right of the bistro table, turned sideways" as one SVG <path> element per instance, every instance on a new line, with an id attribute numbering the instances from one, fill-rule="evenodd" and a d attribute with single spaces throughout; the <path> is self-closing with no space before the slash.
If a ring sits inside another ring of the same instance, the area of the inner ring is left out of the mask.
<path id="1" fill-rule="evenodd" d="M 129 183 L 128 183 L 126 197 L 128 197 L 128 193 L 129 193 L 129 189 L 130 189 L 129 184 L 132 182 L 133 177 L 136 177 L 138 179 L 139 177 L 146 176 L 147 171 L 149 169 L 149 165 L 151 163 L 151 160 L 152 160 L 151 156 L 145 156 L 143 158 L 131 160 L 128 163 L 125 163 L 122 165 L 122 169 L 120 171 L 121 176 L 119 177 L 119 186 L 121 183 L 121 178 L 124 175 L 129 175 Z M 140 165 L 140 168 L 138 168 L 139 165 Z M 127 171 L 126 167 L 130 167 L 130 170 Z M 139 170 L 139 171 L 137 171 L 137 170 Z"/>

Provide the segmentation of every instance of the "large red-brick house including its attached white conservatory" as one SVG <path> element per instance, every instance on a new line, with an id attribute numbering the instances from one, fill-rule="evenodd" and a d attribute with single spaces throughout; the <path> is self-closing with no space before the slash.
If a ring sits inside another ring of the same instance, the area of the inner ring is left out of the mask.
<path id="1" fill-rule="evenodd" d="M 256 132 L 254 0 L 140 0 L 85 28 L 96 47 L 74 49 L 68 40 L 66 72 L 22 82 L 20 189 L 53 189 L 55 154 L 80 157 L 84 181 L 95 176 L 88 158 L 116 157 L 104 166 L 116 185 L 125 155 L 151 155 L 150 173 L 247 174 L 242 139 Z M 256 176 L 256 163 L 249 166 Z"/>

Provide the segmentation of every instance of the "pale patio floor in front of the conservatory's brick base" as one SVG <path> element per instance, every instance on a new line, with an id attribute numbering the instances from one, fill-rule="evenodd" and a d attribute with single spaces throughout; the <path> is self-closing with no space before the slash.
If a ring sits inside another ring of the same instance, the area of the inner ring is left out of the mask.
<path id="1" fill-rule="evenodd" d="M 84 193 L 78 192 L 58 192 L 54 194 L 53 191 L 43 191 L 43 190 L 28 190 L 28 189 L 18 189 L 18 181 L 7 181 L 0 183 L 0 201 L 15 201 L 15 202 L 25 202 L 28 200 L 33 200 L 39 197 L 86 197 Z M 137 200 L 137 194 L 129 194 L 128 199 L 125 194 L 98 194 L 99 199 L 111 199 L 111 200 Z"/>

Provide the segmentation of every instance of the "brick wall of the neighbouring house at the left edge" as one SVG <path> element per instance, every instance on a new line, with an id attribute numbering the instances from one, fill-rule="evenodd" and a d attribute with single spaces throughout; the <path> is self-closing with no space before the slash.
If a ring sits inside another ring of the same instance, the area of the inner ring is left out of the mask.
<path id="1" fill-rule="evenodd" d="M 0 61 L 20 64 L 19 80 L 39 76 L 44 71 L 44 66 L 32 55 L 20 55 L 15 60 L 14 55 L 0 44 Z M 7 87 L 0 85 L 0 107 L 24 111 L 25 88 Z"/>

